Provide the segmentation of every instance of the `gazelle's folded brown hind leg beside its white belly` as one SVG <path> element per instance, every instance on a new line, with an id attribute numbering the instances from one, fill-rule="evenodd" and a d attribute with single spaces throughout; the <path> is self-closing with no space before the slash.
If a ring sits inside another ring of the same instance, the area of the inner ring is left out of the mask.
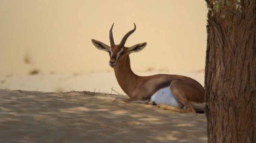
<path id="1" fill-rule="evenodd" d="M 186 89 L 190 89 L 191 87 L 186 83 L 183 82 L 181 80 L 177 80 L 177 81 L 172 81 L 171 85 L 170 85 L 170 90 L 172 92 L 172 94 L 186 107 L 185 109 L 179 109 L 179 108 L 175 108 L 172 106 L 167 106 L 167 105 L 161 105 L 163 109 L 168 109 L 168 110 L 173 110 L 173 111 L 177 111 L 180 113 L 188 113 L 188 112 L 193 112 L 196 113 L 196 111 L 193 109 L 192 105 L 190 104 L 189 100 L 188 100 L 188 96 L 187 94 L 191 94 L 191 93 L 187 93 Z M 160 107 L 161 107 L 160 106 Z"/>

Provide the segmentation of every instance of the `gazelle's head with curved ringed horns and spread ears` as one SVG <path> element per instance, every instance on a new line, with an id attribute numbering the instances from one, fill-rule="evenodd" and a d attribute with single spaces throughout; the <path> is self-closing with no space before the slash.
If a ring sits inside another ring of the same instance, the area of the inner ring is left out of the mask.
<path id="1" fill-rule="evenodd" d="M 133 23 L 134 24 L 134 23 Z M 119 45 L 115 45 L 114 39 L 113 39 L 113 34 L 112 34 L 112 28 L 114 24 L 111 26 L 111 29 L 109 31 L 109 39 L 110 39 L 110 45 L 108 46 L 100 41 L 92 39 L 92 44 L 99 50 L 106 51 L 109 53 L 110 60 L 109 60 L 109 65 L 114 68 L 115 66 L 119 64 L 123 64 L 129 59 L 129 54 L 133 52 L 140 52 L 146 45 L 147 43 L 141 43 L 141 44 L 136 44 L 131 47 L 125 47 L 124 44 L 127 40 L 127 38 L 136 30 L 136 25 L 134 24 L 134 29 L 126 33 L 120 42 Z"/>

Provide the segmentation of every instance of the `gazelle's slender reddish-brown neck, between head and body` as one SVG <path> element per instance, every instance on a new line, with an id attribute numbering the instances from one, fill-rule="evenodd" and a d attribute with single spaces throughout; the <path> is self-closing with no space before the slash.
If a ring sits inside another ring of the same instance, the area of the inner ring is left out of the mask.
<path id="1" fill-rule="evenodd" d="M 125 94 L 129 97 L 132 96 L 132 90 L 135 87 L 135 84 L 138 79 L 138 75 L 133 73 L 130 64 L 130 58 L 127 58 L 127 61 L 123 62 L 122 64 L 117 65 L 114 68 L 115 77 L 118 81 L 118 84 L 123 89 Z"/>

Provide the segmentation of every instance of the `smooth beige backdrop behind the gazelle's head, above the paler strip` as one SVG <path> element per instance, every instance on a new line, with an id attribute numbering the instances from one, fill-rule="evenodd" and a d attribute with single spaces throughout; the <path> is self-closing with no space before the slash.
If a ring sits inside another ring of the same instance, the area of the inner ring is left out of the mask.
<path id="1" fill-rule="evenodd" d="M 0 76 L 112 71 L 91 39 L 109 44 L 115 23 L 119 43 L 133 22 L 126 46 L 148 43 L 131 55 L 133 70 L 201 70 L 206 14 L 203 0 L 0 0 Z"/>

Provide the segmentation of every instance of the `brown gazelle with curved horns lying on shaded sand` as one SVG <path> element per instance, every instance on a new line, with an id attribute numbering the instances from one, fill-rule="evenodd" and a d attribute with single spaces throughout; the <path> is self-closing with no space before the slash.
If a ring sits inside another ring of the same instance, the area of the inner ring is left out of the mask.
<path id="1" fill-rule="evenodd" d="M 92 39 L 92 44 L 99 50 L 109 53 L 109 65 L 114 69 L 116 79 L 130 99 L 129 103 L 158 104 L 164 109 L 180 113 L 203 113 L 205 99 L 204 88 L 196 80 L 182 75 L 156 74 L 138 76 L 131 70 L 129 54 L 140 52 L 147 43 L 125 47 L 127 38 L 136 30 L 127 32 L 119 45 L 115 45 L 112 28 L 109 31 L 110 45 Z"/>

